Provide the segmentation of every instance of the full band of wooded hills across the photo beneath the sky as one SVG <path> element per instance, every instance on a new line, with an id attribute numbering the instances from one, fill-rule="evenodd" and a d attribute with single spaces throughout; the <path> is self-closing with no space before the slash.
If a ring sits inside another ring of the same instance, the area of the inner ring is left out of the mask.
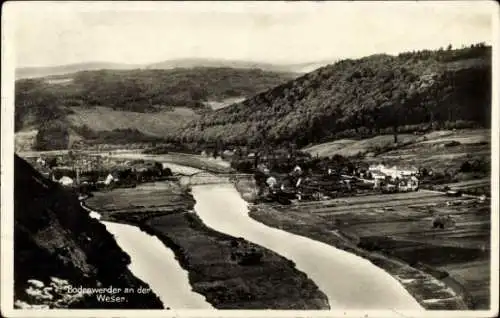
<path id="1" fill-rule="evenodd" d="M 179 108 L 189 111 L 176 113 Z M 126 142 L 129 134 L 137 141 L 162 138 L 189 145 L 221 141 L 305 147 L 393 131 L 488 127 L 491 47 L 377 54 L 301 76 L 194 67 L 82 71 L 17 81 L 16 131 L 38 129 L 49 119 L 94 143 Z M 50 127 L 39 133 L 72 134 Z M 98 132 L 108 134 L 100 139 Z"/>

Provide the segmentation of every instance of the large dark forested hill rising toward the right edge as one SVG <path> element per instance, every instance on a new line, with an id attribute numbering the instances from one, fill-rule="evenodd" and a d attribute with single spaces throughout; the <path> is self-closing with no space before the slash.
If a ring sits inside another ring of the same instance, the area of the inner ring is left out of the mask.
<path id="1" fill-rule="evenodd" d="M 489 126 L 491 47 L 346 59 L 188 123 L 182 142 L 299 146 L 381 132 Z"/>

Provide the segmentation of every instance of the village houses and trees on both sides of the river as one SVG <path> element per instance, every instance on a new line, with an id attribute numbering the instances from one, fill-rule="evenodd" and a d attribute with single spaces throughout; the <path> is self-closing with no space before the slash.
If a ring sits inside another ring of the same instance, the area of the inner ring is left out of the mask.
<path id="1" fill-rule="evenodd" d="M 207 149 L 200 155 L 192 156 L 202 158 L 200 162 L 216 158 L 230 163 L 234 173 L 252 176 L 259 201 L 280 204 L 290 204 L 292 200 L 320 201 L 347 196 L 414 192 L 420 189 L 422 181 L 432 180 L 433 177 L 433 171 L 425 168 L 368 164 L 339 155 L 318 158 L 284 149 L 249 151 L 237 148 L 220 152 Z M 175 179 L 168 167 L 153 159 L 127 160 L 105 154 L 69 151 L 27 160 L 47 178 L 74 188 L 83 195 L 91 191 Z M 447 194 L 460 195 L 453 191 Z"/>

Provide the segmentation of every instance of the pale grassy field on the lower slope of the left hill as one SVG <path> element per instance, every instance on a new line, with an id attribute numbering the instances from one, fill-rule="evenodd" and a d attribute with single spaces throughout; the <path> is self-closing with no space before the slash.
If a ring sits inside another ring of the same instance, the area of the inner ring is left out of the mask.
<path id="1" fill-rule="evenodd" d="M 160 137 L 198 117 L 192 109 L 182 107 L 155 113 L 136 113 L 113 110 L 108 107 L 73 108 L 72 110 L 74 114 L 68 115 L 68 119 L 74 126 L 86 125 L 96 132 L 130 128 Z"/>

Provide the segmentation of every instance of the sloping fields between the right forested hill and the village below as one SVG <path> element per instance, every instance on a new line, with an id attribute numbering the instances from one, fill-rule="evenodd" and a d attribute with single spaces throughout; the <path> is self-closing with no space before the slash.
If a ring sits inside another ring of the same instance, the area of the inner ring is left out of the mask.
<path id="1" fill-rule="evenodd" d="M 414 165 L 444 171 L 458 169 L 464 160 L 489 162 L 490 134 L 489 129 L 440 130 L 420 136 L 399 134 L 397 146 L 393 144 L 393 135 L 381 135 L 361 140 L 340 139 L 303 150 L 320 157 L 362 154 L 370 164 Z"/>

